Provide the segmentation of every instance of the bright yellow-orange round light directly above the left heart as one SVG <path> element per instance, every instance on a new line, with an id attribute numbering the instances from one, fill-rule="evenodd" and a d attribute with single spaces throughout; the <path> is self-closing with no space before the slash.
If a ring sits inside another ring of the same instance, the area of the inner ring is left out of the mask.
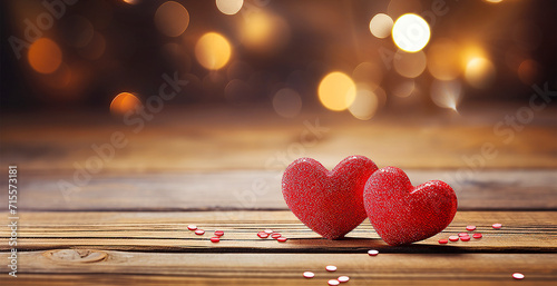
<path id="1" fill-rule="evenodd" d="M 345 73 L 334 71 L 326 75 L 321 80 L 317 93 L 321 103 L 325 108 L 341 111 L 346 109 L 354 101 L 355 85 Z"/>

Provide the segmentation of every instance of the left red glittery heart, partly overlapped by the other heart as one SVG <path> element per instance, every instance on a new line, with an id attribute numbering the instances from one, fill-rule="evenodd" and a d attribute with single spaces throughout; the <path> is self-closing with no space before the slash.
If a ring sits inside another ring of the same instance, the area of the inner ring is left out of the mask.
<path id="1" fill-rule="evenodd" d="M 367 217 L 363 188 L 378 166 L 350 156 L 329 171 L 319 161 L 300 158 L 282 178 L 282 194 L 294 215 L 328 239 L 342 238 Z"/>

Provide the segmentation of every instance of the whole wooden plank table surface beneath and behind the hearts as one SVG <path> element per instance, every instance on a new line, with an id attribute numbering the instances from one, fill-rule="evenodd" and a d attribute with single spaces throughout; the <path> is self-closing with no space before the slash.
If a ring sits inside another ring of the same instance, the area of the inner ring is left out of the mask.
<path id="1" fill-rule="evenodd" d="M 2 115 L 1 164 L 18 166 L 19 225 L 17 278 L 8 275 L 10 229 L 0 228 L 0 284 L 326 285 L 348 275 L 348 285 L 555 285 L 557 110 L 537 111 L 520 128 L 496 127 L 519 108 L 485 103 L 370 121 L 319 110 L 281 119 L 261 107 L 167 108 L 141 128 L 102 112 Z M 98 157 L 91 145 L 106 146 L 116 131 L 127 145 L 84 175 Z M 496 156 L 482 154 L 486 144 Z M 368 220 L 345 239 L 320 238 L 287 210 L 282 171 L 301 156 L 332 168 L 355 154 L 401 167 L 414 185 L 449 183 L 459 199 L 455 220 L 409 246 L 385 245 Z M 76 188 L 62 191 L 61 181 Z M 483 237 L 437 243 L 467 225 Z M 266 228 L 289 240 L 258 238 Z M 225 235 L 211 243 L 217 229 Z M 305 270 L 315 278 L 303 278 Z"/>

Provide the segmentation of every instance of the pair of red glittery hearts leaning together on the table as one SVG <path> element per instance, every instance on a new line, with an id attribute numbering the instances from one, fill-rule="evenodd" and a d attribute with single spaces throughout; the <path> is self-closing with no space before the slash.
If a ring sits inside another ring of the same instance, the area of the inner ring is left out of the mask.
<path id="1" fill-rule="evenodd" d="M 329 239 L 344 237 L 369 217 L 389 245 L 410 244 L 440 233 L 457 213 L 457 196 L 446 183 L 413 187 L 401 169 L 378 169 L 363 156 L 350 156 L 332 171 L 300 158 L 284 171 L 282 191 L 292 213 Z"/>

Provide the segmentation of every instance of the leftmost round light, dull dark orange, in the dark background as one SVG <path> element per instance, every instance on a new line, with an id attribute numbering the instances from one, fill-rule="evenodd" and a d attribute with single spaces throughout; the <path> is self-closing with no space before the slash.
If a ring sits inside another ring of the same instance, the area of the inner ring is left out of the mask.
<path id="1" fill-rule="evenodd" d="M 62 51 L 52 40 L 40 38 L 29 47 L 27 59 L 36 71 L 52 73 L 62 63 Z"/>

